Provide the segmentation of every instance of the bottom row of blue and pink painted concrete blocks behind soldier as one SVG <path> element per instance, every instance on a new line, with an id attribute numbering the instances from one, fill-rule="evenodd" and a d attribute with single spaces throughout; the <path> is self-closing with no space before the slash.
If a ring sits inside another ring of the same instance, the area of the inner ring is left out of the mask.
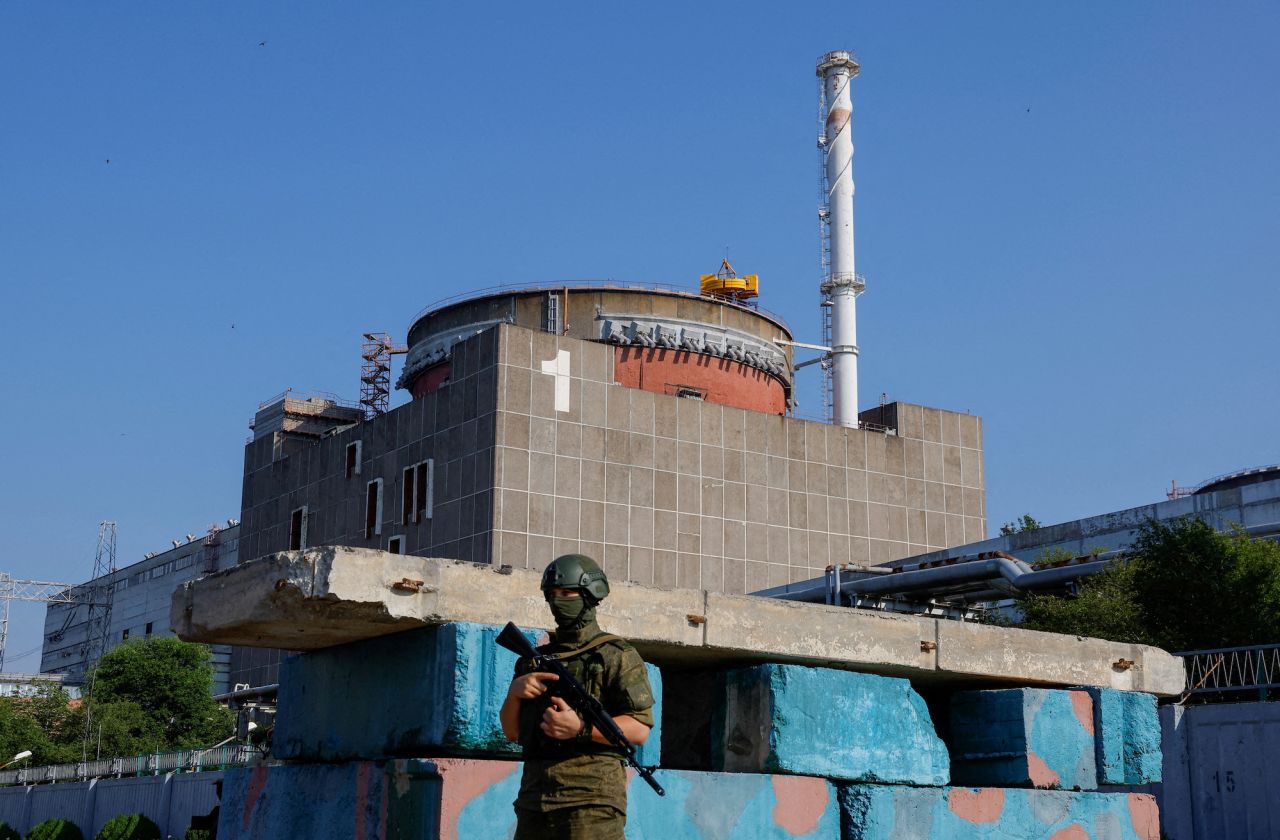
<path id="1" fill-rule="evenodd" d="M 763 773 L 662 771 L 628 790 L 628 840 L 1160 840 L 1142 794 L 833 785 Z M 520 763 L 399 759 L 228 772 L 218 836 L 266 840 L 512 837 Z"/>

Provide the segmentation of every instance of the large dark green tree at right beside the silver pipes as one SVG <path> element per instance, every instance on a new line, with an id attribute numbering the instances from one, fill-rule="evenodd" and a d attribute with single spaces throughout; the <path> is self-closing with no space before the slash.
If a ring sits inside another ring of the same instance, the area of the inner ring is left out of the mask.
<path id="1" fill-rule="evenodd" d="M 1075 597 L 1016 599 L 1032 630 L 1155 644 L 1166 650 L 1280 642 L 1280 545 L 1197 519 L 1149 520 L 1125 561 Z"/>

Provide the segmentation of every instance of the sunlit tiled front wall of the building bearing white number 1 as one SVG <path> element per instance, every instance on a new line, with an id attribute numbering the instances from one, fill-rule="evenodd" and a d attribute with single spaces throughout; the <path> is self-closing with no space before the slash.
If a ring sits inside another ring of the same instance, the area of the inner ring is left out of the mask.
<path id="1" fill-rule="evenodd" d="M 897 434 L 613 384 L 613 348 L 499 332 L 494 562 L 742 593 L 986 534 L 982 421 L 896 405 Z M 567 388 L 543 373 L 567 355 Z"/>

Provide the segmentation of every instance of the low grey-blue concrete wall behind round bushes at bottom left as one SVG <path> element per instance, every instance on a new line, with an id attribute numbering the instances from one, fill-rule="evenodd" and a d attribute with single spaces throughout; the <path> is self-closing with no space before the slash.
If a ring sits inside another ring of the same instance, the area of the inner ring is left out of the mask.
<path id="1" fill-rule="evenodd" d="M 92 837 L 111 817 L 141 813 L 161 832 L 180 837 L 192 817 L 218 804 L 215 784 L 221 777 L 221 772 L 168 773 L 0 788 L 0 822 L 26 834 L 45 820 L 70 820 Z"/>

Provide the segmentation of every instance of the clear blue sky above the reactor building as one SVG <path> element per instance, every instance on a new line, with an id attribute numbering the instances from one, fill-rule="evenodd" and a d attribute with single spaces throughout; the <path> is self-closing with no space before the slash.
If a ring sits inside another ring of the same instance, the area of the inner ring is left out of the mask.
<path id="1" fill-rule="evenodd" d="M 257 402 L 355 396 L 360 333 L 456 292 L 727 246 L 815 341 L 831 49 L 861 401 L 982 415 L 992 528 L 1280 461 L 1277 41 L 1274 3 L 0 0 L 0 570 L 236 516 Z"/>

